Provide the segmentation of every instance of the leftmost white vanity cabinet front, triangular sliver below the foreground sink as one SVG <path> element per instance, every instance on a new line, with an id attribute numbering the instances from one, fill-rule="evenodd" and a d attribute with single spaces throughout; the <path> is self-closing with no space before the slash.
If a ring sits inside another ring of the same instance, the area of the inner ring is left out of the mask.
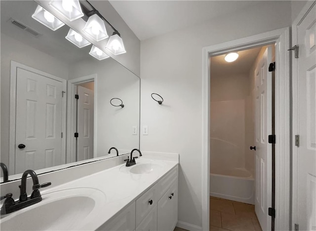
<path id="1" fill-rule="evenodd" d="M 97 229 L 97 231 L 133 230 L 135 230 L 135 202 Z"/>

